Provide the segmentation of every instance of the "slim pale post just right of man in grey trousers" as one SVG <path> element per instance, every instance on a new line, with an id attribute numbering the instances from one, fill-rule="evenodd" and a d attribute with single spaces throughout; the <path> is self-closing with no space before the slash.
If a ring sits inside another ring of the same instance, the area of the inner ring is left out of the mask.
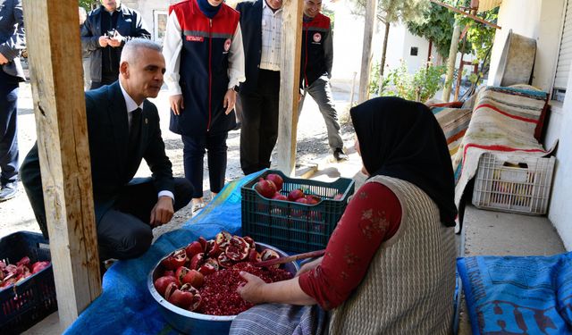
<path id="1" fill-rule="evenodd" d="M 364 45 L 361 51 L 361 69 L 359 71 L 359 94 L 357 104 L 369 99 L 369 72 L 372 64 L 372 38 L 377 18 L 377 1 L 367 0 L 366 24 L 364 25 Z M 381 69 L 380 69 L 381 72 Z"/>

